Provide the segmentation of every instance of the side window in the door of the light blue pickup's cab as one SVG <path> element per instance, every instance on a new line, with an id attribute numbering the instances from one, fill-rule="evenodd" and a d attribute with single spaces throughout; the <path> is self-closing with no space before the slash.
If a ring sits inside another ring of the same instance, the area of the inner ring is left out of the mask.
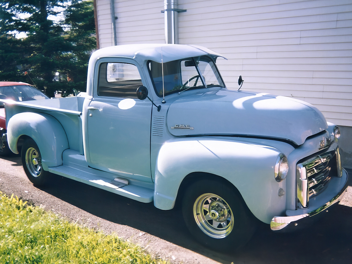
<path id="1" fill-rule="evenodd" d="M 120 98 L 137 98 L 136 90 L 142 86 L 136 65 L 106 62 L 100 64 L 98 95 Z"/>

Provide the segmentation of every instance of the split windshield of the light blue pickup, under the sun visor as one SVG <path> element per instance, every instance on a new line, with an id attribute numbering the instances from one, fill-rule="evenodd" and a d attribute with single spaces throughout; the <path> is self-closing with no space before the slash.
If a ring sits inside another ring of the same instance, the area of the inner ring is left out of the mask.
<path id="1" fill-rule="evenodd" d="M 215 63 L 207 56 L 165 62 L 163 65 L 149 61 L 148 67 L 155 92 L 160 97 L 163 96 L 163 70 L 165 95 L 187 89 L 225 87 Z"/>

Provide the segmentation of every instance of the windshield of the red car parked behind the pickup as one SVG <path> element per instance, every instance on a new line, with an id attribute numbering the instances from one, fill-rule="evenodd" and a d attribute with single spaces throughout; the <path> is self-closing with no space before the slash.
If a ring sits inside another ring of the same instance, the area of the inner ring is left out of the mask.
<path id="1" fill-rule="evenodd" d="M 29 85 L 14 85 L 0 87 L 0 99 L 13 101 L 31 101 L 49 99 L 48 96 Z"/>

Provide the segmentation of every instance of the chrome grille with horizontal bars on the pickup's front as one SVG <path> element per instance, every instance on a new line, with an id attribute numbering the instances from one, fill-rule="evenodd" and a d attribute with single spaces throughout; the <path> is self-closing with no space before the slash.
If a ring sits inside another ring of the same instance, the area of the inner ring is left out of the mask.
<path id="1" fill-rule="evenodd" d="M 339 150 L 315 154 L 297 164 L 297 207 L 307 208 L 309 198 L 323 191 L 338 173 Z"/>

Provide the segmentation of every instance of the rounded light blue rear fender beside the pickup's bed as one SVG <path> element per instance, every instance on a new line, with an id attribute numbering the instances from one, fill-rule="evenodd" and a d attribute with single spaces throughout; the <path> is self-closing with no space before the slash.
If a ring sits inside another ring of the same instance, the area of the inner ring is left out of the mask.
<path id="1" fill-rule="evenodd" d="M 31 137 L 38 145 L 44 170 L 62 165 L 62 152 L 69 145 L 57 119 L 44 113 L 15 114 L 7 124 L 7 140 L 12 152 L 18 153 L 18 139 L 23 135 Z"/>

